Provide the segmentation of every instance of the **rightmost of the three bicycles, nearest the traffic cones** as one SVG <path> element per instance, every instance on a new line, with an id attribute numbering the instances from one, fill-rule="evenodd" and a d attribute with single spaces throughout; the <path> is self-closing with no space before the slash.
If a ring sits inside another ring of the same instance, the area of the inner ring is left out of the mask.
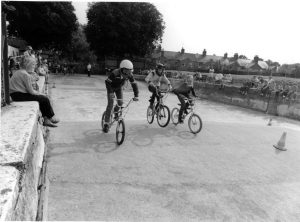
<path id="1" fill-rule="evenodd" d="M 187 98 L 185 98 L 185 102 L 188 103 L 189 106 L 186 110 L 183 111 L 182 119 L 184 121 L 185 117 L 190 114 L 190 117 L 188 120 L 189 129 L 194 134 L 199 133 L 202 129 L 203 124 L 202 124 L 202 120 L 201 120 L 200 116 L 194 112 L 195 99 L 193 99 L 192 102 L 190 102 Z M 178 105 L 181 106 L 180 103 Z M 178 124 L 179 109 L 180 108 L 175 107 L 172 109 L 172 112 L 171 112 L 171 119 L 172 119 L 172 122 L 174 125 Z"/>

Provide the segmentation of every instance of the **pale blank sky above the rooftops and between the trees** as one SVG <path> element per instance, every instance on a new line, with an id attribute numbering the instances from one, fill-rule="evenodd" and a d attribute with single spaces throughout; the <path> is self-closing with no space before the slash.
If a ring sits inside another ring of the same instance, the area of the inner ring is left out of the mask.
<path id="1" fill-rule="evenodd" d="M 137 0 L 138 1 L 138 0 Z M 162 47 L 280 64 L 300 63 L 299 0 L 151 0 L 163 15 Z M 86 24 L 87 2 L 72 2 Z"/>

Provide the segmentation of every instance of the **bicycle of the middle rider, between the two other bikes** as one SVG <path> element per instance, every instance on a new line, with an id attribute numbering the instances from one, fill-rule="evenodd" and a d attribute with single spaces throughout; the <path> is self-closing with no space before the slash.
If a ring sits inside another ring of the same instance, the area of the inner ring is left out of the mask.
<path id="1" fill-rule="evenodd" d="M 154 116 L 156 115 L 157 123 L 160 127 L 166 127 L 170 122 L 170 109 L 164 105 L 163 98 L 169 91 L 157 91 L 158 101 L 154 102 L 153 107 L 147 108 L 147 121 L 149 124 L 153 123 Z M 164 120 L 166 122 L 164 122 Z"/>

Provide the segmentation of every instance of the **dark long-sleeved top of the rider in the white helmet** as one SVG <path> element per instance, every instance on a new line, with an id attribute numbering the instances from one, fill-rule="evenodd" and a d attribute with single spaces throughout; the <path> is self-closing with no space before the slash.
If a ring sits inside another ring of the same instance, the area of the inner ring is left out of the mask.
<path id="1" fill-rule="evenodd" d="M 129 80 L 135 97 L 139 96 L 139 90 L 137 83 L 134 81 L 133 75 L 124 77 L 121 74 L 121 69 L 113 70 L 108 78 L 105 80 L 105 85 L 109 93 L 113 93 L 115 90 L 121 89 L 124 86 L 126 80 Z"/>

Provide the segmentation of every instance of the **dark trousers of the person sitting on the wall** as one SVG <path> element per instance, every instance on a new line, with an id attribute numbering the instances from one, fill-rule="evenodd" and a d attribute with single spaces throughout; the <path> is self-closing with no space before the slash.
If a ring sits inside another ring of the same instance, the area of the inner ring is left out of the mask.
<path id="1" fill-rule="evenodd" d="M 37 101 L 40 106 L 42 116 L 48 117 L 49 119 L 54 116 L 54 112 L 47 96 L 44 95 L 32 95 L 29 93 L 15 92 L 10 94 L 13 101 Z"/>

